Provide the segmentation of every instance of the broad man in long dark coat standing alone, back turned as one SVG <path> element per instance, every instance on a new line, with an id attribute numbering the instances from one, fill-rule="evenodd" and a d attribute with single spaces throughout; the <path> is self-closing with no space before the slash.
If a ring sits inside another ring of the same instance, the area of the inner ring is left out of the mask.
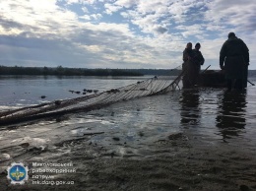
<path id="1" fill-rule="evenodd" d="M 220 52 L 220 67 L 225 71 L 227 89 L 242 90 L 247 87 L 249 49 L 234 32 L 228 33 L 228 39 Z"/>

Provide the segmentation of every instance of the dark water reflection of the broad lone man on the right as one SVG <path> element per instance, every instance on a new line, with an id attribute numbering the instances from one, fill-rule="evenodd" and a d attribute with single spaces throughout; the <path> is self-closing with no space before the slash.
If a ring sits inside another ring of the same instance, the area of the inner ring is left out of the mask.
<path id="1" fill-rule="evenodd" d="M 217 127 L 225 139 L 238 136 L 246 125 L 246 93 L 220 94 L 218 104 L 218 115 L 216 117 Z"/>

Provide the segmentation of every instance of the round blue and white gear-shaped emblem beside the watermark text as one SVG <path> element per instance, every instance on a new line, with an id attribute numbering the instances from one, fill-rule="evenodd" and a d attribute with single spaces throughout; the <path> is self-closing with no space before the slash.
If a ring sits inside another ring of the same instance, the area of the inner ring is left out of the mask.
<path id="1" fill-rule="evenodd" d="M 7 178 L 11 180 L 12 184 L 24 184 L 25 180 L 29 179 L 28 171 L 28 166 L 25 166 L 22 162 L 13 162 L 7 169 Z"/>

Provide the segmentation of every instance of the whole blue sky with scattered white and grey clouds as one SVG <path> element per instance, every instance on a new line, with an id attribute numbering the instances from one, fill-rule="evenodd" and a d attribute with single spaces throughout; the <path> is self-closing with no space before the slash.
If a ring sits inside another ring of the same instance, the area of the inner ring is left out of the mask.
<path id="1" fill-rule="evenodd" d="M 0 65 L 173 69 L 187 42 L 220 69 L 235 32 L 256 69 L 255 0 L 4 0 Z"/>

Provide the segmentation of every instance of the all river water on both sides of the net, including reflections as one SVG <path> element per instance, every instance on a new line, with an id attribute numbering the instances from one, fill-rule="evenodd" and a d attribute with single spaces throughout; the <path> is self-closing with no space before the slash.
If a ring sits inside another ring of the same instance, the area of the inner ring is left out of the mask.
<path id="1" fill-rule="evenodd" d="M 1 76 L 0 109 L 82 96 L 70 91 L 82 93 L 84 89 L 93 89 L 103 92 L 147 78 Z M 250 80 L 256 83 L 256 79 Z M 102 145 L 122 158 L 158 155 L 158 151 L 151 150 L 152 145 L 173 133 L 183 133 L 186 135 L 183 139 L 197 139 L 205 145 L 222 147 L 227 144 L 255 152 L 255 100 L 256 87 L 249 84 L 245 93 L 226 93 L 224 89 L 213 88 L 176 90 L 69 114 L 60 120 L 52 118 L 3 126 L 0 129 L 0 157 L 2 161 L 26 161 L 65 155 L 72 145 L 60 149 L 58 144 L 79 140 L 87 133 L 100 133 L 87 140 L 88 144 Z M 50 152 L 33 157 L 21 147 L 23 144 Z"/>

